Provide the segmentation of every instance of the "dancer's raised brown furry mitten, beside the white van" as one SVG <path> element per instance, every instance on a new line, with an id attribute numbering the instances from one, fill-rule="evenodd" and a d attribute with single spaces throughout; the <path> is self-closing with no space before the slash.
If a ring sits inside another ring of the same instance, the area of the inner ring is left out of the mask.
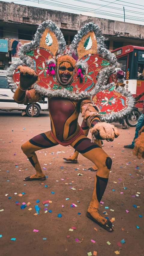
<path id="1" fill-rule="evenodd" d="M 38 76 L 32 68 L 18 66 L 20 72 L 19 86 L 23 89 L 29 89 L 37 80 Z"/>

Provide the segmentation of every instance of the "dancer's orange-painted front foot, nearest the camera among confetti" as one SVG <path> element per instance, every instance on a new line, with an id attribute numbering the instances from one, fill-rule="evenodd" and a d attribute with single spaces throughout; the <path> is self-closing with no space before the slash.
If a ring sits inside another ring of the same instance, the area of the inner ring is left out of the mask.
<path id="1" fill-rule="evenodd" d="M 90 218 L 91 220 L 95 221 L 99 226 L 103 227 L 107 231 L 112 232 L 114 230 L 111 221 L 103 218 L 98 213 L 98 209 L 97 208 L 89 206 L 88 210 L 86 212 L 86 215 L 87 215 L 88 218 Z"/>

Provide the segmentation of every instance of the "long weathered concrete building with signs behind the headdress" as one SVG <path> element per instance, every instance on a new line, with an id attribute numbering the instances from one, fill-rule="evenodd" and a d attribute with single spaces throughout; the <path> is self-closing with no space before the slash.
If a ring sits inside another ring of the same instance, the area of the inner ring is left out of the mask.
<path id="1" fill-rule="evenodd" d="M 67 45 L 85 23 L 94 22 L 100 26 L 108 39 L 106 46 L 109 50 L 129 44 L 144 47 L 142 25 L 18 5 L 13 2 L 0 2 L 0 69 L 6 69 L 13 62 L 12 39 L 20 40 L 22 44 L 26 43 L 26 40 L 31 41 L 38 25 L 44 20 L 52 20 L 56 23 Z"/>

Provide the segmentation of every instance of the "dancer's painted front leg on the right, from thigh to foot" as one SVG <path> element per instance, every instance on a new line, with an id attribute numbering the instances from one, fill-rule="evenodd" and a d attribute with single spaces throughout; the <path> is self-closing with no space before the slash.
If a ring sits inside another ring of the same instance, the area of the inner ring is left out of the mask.
<path id="1" fill-rule="evenodd" d="M 107 187 L 112 159 L 98 144 L 91 143 L 91 140 L 85 136 L 80 136 L 71 146 L 98 166 L 94 191 L 87 216 L 111 232 L 113 230 L 112 223 L 98 213 L 98 206 Z"/>

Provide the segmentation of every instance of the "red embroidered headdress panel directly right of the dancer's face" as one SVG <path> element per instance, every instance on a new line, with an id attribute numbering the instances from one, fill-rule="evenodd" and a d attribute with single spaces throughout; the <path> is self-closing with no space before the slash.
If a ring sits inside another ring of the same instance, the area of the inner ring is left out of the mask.
<path id="1" fill-rule="evenodd" d="M 73 92 L 76 93 L 82 91 L 91 91 L 98 80 L 100 74 L 99 72 L 102 69 L 112 65 L 106 58 L 103 58 L 99 54 L 89 54 L 82 57 L 81 59 L 88 63 L 88 71 L 82 73 L 84 77 L 82 79 L 83 82 L 80 83 L 79 77 L 77 77 L 78 67 L 75 69 L 75 73 L 73 76 L 74 80 L 71 84 L 71 87 L 73 86 Z"/>

